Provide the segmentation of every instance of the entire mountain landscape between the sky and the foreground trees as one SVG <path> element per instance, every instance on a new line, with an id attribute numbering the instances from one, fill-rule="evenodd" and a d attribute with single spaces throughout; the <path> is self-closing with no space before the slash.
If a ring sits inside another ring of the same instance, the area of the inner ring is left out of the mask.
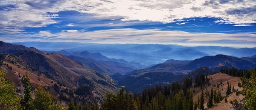
<path id="1" fill-rule="evenodd" d="M 46 46 L 47 48 L 53 46 L 52 43 L 48 44 L 50 46 Z M 84 47 L 79 47 L 81 45 Z M 82 97 L 81 100 L 92 101 L 99 101 L 105 93 L 114 93 L 121 86 L 132 92 L 140 92 L 143 88 L 169 84 L 191 74 L 210 75 L 219 69 L 232 67 L 256 68 L 255 48 L 87 43 L 75 43 L 71 49 L 60 47 L 56 48 L 63 50 L 41 51 L 35 47 L 28 48 L 18 43 L 1 41 L 1 66 L 8 71 L 7 77 L 13 82 L 20 80 L 19 75 L 22 76 L 28 71 L 33 85 L 42 84 L 55 88 L 56 84 L 62 91 L 64 88 L 73 91 L 76 96 Z M 154 65 L 157 62 L 161 63 Z M 18 82 L 16 85 L 18 86 Z M 85 88 L 89 90 L 87 95 L 77 92 Z M 60 98 L 60 91 L 50 90 L 57 94 L 57 99 Z M 68 92 L 64 94 L 67 98 L 72 97 Z"/>

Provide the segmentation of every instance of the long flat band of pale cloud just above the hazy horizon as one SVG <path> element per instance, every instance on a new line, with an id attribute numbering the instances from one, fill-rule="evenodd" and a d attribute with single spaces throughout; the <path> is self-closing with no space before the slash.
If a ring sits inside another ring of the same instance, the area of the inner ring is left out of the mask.
<path id="1" fill-rule="evenodd" d="M 9 35 L 11 36 L 11 35 Z M 15 38 L 5 36 L 5 41 L 59 41 L 59 42 L 91 42 L 91 43 L 137 43 L 137 44 L 180 44 L 186 46 L 218 45 L 232 47 L 256 47 L 256 35 L 250 33 L 188 33 L 183 31 L 136 30 L 131 28 L 78 31 L 62 30 L 59 33 L 40 31 L 39 33 L 16 35 Z"/>

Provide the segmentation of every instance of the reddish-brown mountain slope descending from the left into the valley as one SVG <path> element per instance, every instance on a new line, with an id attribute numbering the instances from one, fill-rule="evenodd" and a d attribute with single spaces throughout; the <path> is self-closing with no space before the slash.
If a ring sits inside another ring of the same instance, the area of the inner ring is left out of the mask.
<path id="1" fill-rule="evenodd" d="M 0 54 L 0 66 L 7 71 L 7 74 L 13 74 L 9 75 L 11 79 L 14 77 L 10 76 L 15 76 L 15 74 L 22 75 L 28 71 L 34 86 L 42 84 L 52 88 L 51 86 L 54 83 L 58 83 L 61 88 L 76 90 L 86 85 L 90 89 L 84 94 L 85 96 L 81 96 L 81 93 L 76 93 L 76 95 L 80 95 L 79 97 L 84 97 L 90 101 L 99 101 L 105 96 L 106 92 L 113 93 L 117 91 L 115 82 L 111 77 L 87 68 L 71 58 L 60 54 L 40 54 L 42 52 L 39 50 L 34 52 L 29 48 L 23 48 L 23 46 L 20 49 L 18 48 L 20 46 L 17 47 L 12 44 L 8 44 L 8 46 L 15 47 L 11 48 L 12 51 L 9 51 L 15 54 Z M 1 53 L 3 52 L 6 52 L 6 50 L 1 51 Z M 58 97 L 60 91 L 52 91 L 52 93 L 57 94 L 56 97 Z M 70 95 L 67 94 L 67 96 Z"/>

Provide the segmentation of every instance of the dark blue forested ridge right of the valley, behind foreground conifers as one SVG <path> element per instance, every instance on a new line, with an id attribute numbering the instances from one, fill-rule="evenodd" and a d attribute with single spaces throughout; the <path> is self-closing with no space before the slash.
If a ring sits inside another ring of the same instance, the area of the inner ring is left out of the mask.
<path id="1" fill-rule="evenodd" d="M 204 71 L 198 71 L 204 67 Z M 213 74 L 222 68 L 252 69 L 256 68 L 256 58 L 238 58 L 229 55 L 205 56 L 195 60 L 167 60 L 147 69 L 134 70 L 113 75 L 119 86 L 130 91 L 139 92 L 143 88 L 165 85 L 180 80 L 191 73 Z M 207 71 L 205 71 L 207 69 Z"/>

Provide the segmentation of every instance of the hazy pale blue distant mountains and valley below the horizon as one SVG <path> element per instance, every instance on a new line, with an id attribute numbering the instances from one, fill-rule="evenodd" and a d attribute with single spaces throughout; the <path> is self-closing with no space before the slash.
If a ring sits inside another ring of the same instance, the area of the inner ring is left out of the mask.
<path id="1" fill-rule="evenodd" d="M 218 54 L 235 57 L 249 57 L 256 55 L 256 48 L 234 48 L 219 46 L 186 47 L 172 44 L 94 44 L 69 42 L 17 42 L 27 47 L 35 47 L 46 51 L 67 52 L 99 52 L 108 58 L 123 59 L 128 62 L 140 63 L 140 68 L 163 63 L 168 59 L 194 60 L 204 56 Z M 96 59 L 97 60 L 97 59 Z"/>

